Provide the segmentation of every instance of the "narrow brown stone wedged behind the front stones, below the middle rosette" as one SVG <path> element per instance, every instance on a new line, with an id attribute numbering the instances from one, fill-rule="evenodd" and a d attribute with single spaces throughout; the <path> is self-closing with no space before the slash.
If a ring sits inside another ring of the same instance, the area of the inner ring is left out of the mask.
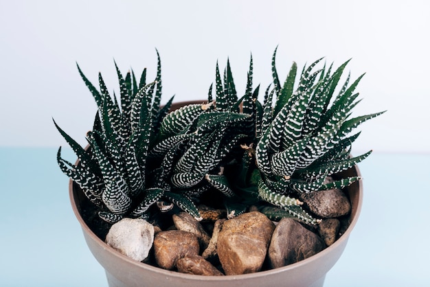
<path id="1" fill-rule="evenodd" d="M 197 236 L 202 250 L 207 248 L 207 245 L 210 242 L 210 236 L 207 234 L 205 229 L 203 229 L 203 226 L 199 221 L 186 212 L 174 214 L 172 219 L 174 226 L 178 230 L 188 231 Z"/>

